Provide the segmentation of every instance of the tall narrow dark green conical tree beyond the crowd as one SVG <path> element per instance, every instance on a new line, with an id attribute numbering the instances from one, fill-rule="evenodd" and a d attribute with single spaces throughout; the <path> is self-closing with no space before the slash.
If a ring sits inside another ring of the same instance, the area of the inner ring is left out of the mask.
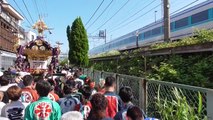
<path id="1" fill-rule="evenodd" d="M 88 37 L 82 20 L 76 18 L 72 27 L 67 26 L 67 37 L 69 41 L 69 61 L 77 66 L 86 66 L 89 63 L 88 58 Z"/>

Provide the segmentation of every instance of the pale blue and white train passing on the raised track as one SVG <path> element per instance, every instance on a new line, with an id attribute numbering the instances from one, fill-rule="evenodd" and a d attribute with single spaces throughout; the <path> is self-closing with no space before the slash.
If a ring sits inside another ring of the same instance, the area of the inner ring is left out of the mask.
<path id="1" fill-rule="evenodd" d="M 171 40 L 181 39 L 192 35 L 196 29 L 213 28 L 213 0 L 207 0 L 171 17 Z M 137 35 L 136 36 L 136 32 Z M 156 42 L 163 42 L 163 20 L 158 20 L 138 30 L 112 40 L 106 44 L 95 47 L 89 55 L 108 52 L 111 50 L 127 50 L 136 47 L 148 46 Z"/>

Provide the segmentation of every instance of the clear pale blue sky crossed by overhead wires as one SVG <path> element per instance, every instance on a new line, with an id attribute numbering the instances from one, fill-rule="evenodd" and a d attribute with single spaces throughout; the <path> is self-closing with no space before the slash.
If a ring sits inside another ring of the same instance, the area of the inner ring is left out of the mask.
<path id="1" fill-rule="evenodd" d="M 37 21 L 39 15 L 42 16 L 47 26 L 54 28 L 52 34 L 46 33 L 46 40 L 49 41 L 52 46 L 55 45 L 56 41 L 63 43 L 61 50 L 63 52 L 68 51 L 68 42 L 66 37 L 67 25 L 72 25 L 72 22 L 80 16 L 84 24 L 88 22 L 92 14 L 95 12 L 97 7 L 101 4 L 102 0 L 7 0 L 17 11 L 29 20 L 30 23 L 25 19 L 22 23 L 22 27 L 29 30 L 29 26 L 33 22 Z M 18 4 L 18 9 L 15 2 Z M 24 6 L 25 2 L 27 9 L 32 16 L 27 12 Z M 201 3 L 205 0 L 170 0 L 170 13 L 190 4 L 190 6 Z M 113 0 L 108 9 L 97 19 L 97 17 L 104 11 L 111 0 L 104 0 L 102 6 L 91 19 L 91 21 L 85 26 L 87 29 L 88 36 L 97 36 L 98 28 L 100 30 L 106 29 L 107 31 L 107 42 L 125 35 L 131 31 L 137 30 L 149 23 L 160 19 L 163 15 L 162 6 L 159 5 L 161 0 Z M 159 5 L 159 6 L 158 6 Z M 37 7 L 38 6 L 38 7 Z M 120 9 L 124 6 L 122 9 Z M 145 6 L 148 6 L 144 8 Z M 155 8 L 155 6 L 158 6 Z M 141 10 L 144 8 L 143 10 Z M 152 9 L 154 8 L 154 9 Z M 120 9 L 119 12 L 117 12 Z M 152 10 L 151 10 L 152 9 Z M 186 7 L 184 8 L 186 9 Z M 183 10 L 183 9 L 182 9 Z M 140 11 L 140 12 L 138 12 Z M 148 12 L 150 11 L 150 12 Z M 157 12 L 155 12 L 157 11 Z M 116 13 L 117 12 L 117 13 Z M 138 12 L 138 14 L 136 14 Z M 134 15 L 136 14 L 136 15 Z M 114 17 L 112 17 L 114 15 Z M 134 16 L 133 16 L 134 15 Z M 131 17 L 133 16 L 133 17 Z M 140 17 L 142 16 L 142 17 Z M 111 18 L 111 19 L 110 19 Z M 94 20 L 97 19 L 96 22 Z M 109 20 L 110 19 L 110 20 Z M 129 23 L 133 19 L 135 21 Z M 107 22 L 106 22 L 107 21 Z M 94 22 L 94 24 L 92 24 Z M 105 23 L 105 25 L 103 25 Z M 102 26 L 102 27 L 100 27 Z M 121 26 L 121 27 L 120 27 Z M 120 29 L 118 29 L 120 28 Z M 103 39 L 92 39 L 89 38 L 90 48 L 104 44 Z"/>

